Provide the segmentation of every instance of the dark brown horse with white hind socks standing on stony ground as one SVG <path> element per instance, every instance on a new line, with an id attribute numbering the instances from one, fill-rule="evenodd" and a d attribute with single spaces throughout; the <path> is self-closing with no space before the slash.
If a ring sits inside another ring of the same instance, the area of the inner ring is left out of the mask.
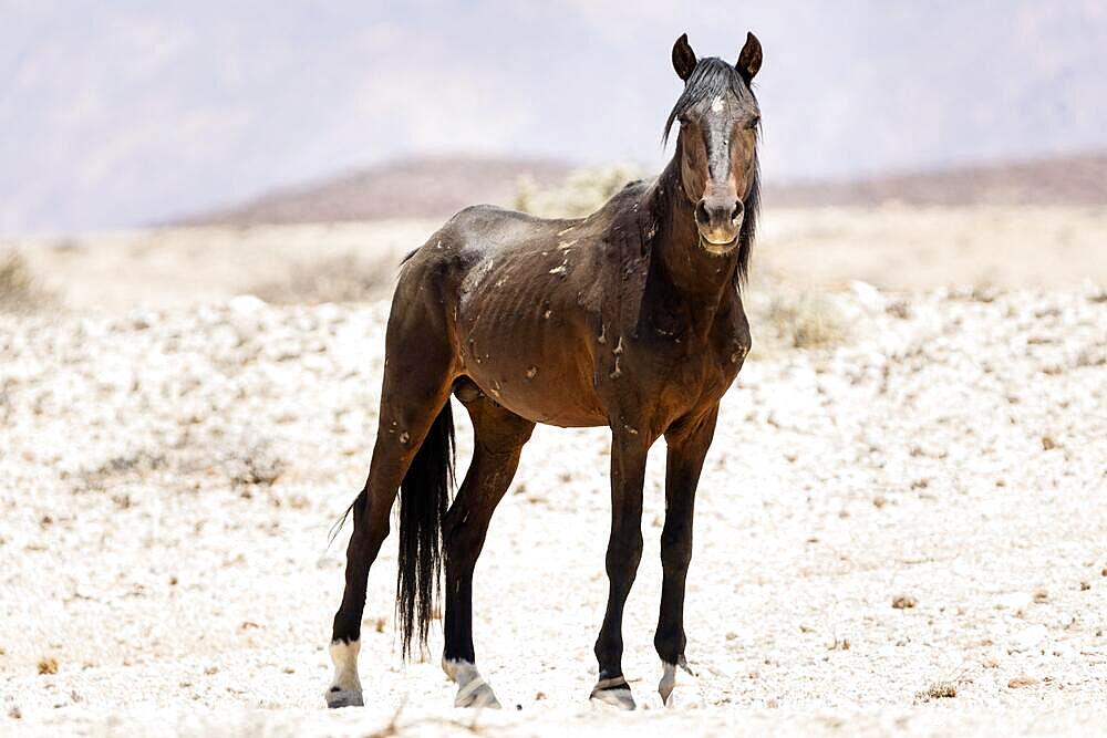
<path id="1" fill-rule="evenodd" d="M 761 117 L 749 84 L 761 63 L 753 34 L 733 66 L 696 60 L 682 35 L 673 66 L 684 91 L 665 126 L 668 137 L 679 122 L 680 135 L 658 179 L 628 185 L 578 220 L 468 208 L 404 260 L 369 480 L 351 506 L 331 707 L 362 704 L 366 578 L 397 490 L 404 649 L 426 642 L 444 560 L 443 668 L 458 684 L 455 704 L 498 705 L 475 666 L 473 570 L 536 423 L 611 428 L 610 590 L 591 697 L 625 708 L 634 700 L 622 673 L 623 605 L 642 558 L 646 451 L 665 437 L 654 644 L 669 701 L 676 667 L 686 668 L 684 581 L 696 485 L 720 399 L 749 350 L 739 288 L 757 217 Z M 452 394 L 475 436 L 453 503 Z"/>

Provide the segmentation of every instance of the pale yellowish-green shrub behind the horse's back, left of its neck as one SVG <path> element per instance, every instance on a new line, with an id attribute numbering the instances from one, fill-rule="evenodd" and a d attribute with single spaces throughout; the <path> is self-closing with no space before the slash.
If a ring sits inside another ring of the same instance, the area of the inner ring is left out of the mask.
<path id="1" fill-rule="evenodd" d="M 544 218 L 582 218 L 596 212 L 627 183 L 641 176 L 639 167 L 629 164 L 577 169 L 569 174 L 563 185 L 550 189 L 538 189 L 531 177 L 523 176 L 515 184 L 513 207 Z"/>

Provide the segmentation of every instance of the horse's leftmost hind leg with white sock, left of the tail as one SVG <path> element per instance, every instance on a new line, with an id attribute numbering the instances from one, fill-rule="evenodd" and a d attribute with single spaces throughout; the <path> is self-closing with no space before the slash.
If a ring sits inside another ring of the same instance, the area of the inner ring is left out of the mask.
<path id="1" fill-rule="evenodd" d="M 402 311 L 396 308 L 402 306 Z M 327 692 L 330 707 L 363 704 L 358 677 L 361 619 L 369 570 L 390 531 L 392 503 L 412 460 L 432 432 L 444 432 L 453 382 L 453 352 L 442 318 L 425 303 L 393 303 L 386 337 L 384 383 L 376 443 L 369 479 L 353 503 L 353 532 L 346 547 L 345 590 L 334 614 L 331 661 L 334 679 Z M 452 426 L 451 426 L 452 427 Z"/>

